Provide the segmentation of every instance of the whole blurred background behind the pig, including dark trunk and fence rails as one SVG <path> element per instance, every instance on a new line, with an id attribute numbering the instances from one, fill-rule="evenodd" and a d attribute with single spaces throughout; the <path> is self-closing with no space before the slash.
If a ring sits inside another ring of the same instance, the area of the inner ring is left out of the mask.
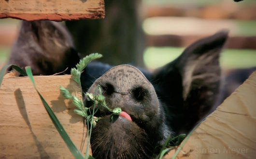
<path id="1" fill-rule="evenodd" d="M 199 38 L 228 29 L 220 60 L 224 74 L 256 67 L 256 0 L 105 0 L 105 5 L 104 20 L 66 22 L 83 56 L 99 52 L 110 64 L 154 70 Z M 8 60 L 19 22 L 0 19 L 0 67 Z"/>

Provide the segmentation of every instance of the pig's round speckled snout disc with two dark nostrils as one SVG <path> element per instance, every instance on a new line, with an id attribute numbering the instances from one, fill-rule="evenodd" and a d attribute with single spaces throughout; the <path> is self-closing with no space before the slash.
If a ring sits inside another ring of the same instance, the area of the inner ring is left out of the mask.
<path id="1" fill-rule="evenodd" d="M 159 102 L 153 85 L 133 66 L 120 65 L 110 69 L 94 82 L 88 92 L 99 94 L 97 86 L 101 87 L 110 109 L 119 107 L 135 121 L 139 118 L 150 120 L 158 112 Z M 109 114 L 101 107 L 100 113 Z"/>

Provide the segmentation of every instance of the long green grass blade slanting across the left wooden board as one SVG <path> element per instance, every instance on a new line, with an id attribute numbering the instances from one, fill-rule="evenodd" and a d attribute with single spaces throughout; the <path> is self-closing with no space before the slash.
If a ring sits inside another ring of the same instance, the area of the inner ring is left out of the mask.
<path id="1" fill-rule="evenodd" d="M 36 84 L 31 72 L 30 67 L 26 67 L 26 73 L 28 74 L 28 77 L 30 78 L 31 82 L 33 83 L 34 88 L 36 89 L 40 99 L 42 100 L 44 108 L 47 110 L 48 115 L 50 116 L 52 122 L 54 123 L 59 135 L 61 135 L 62 139 L 65 141 L 66 145 L 69 147 L 71 153 L 75 157 L 75 159 L 85 159 L 81 152 L 77 149 L 77 147 L 74 145 L 74 143 L 71 141 L 69 135 L 65 131 L 65 129 L 62 127 L 61 123 L 57 119 L 56 115 L 54 114 L 53 110 L 50 108 L 50 106 L 47 104 L 47 102 L 44 100 L 43 96 L 40 94 L 40 92 L 36 88 Z"/>

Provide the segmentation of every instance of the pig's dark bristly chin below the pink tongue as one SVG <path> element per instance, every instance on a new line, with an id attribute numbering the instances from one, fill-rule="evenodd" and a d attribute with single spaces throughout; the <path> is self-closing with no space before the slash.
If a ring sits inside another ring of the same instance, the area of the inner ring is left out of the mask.
<path id="1" fill-rule="evenodd" d="M 91 148 L 96 159 L 148 159 L 152 155 L 148 140 L 137 124 L 123 118 L 112 122 L 105 116 L 93 130 Z"/>

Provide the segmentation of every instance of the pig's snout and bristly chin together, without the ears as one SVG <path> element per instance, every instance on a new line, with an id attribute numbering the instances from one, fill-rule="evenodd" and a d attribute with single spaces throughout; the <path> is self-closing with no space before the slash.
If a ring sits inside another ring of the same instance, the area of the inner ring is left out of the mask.
<path id="1" fill-rule="evenodd" d="M 140 70 L 130 65 L 110 69 L 88 92 L 99 94 L 97 86 L 101 87 L 107 106 L 120 107 L 131 116 L 132 122 L 120 116 L 112 121 L 110 115 L 106 115 L 108 110 L 100 107 L 98 114 L 103 119 L 92 132 L 93 156 L 97 159 L 150 158 L 156 145 L 165 138 L 163 133 L 169 131 L 163 130 L 164 116 L 154 86 Z"/>

